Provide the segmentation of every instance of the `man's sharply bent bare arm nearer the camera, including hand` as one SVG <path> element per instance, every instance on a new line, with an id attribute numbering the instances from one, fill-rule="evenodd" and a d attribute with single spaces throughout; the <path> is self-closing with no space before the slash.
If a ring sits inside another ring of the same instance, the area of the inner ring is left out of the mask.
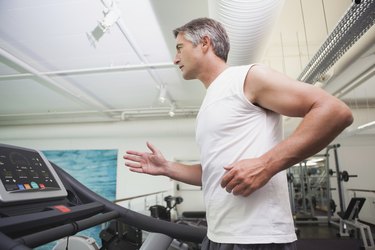
<path id="1" fill-rule="evenodd" d="M 225 167 L 221 186 L 235 195 L 250 195 L 276 173 L 318 153 L 353 121 L 350 109 L 337 98 L 265 66 L 251 68 L 244 93 L 265 109 L 303 119 L 288 138 L 259 158 Z"/>

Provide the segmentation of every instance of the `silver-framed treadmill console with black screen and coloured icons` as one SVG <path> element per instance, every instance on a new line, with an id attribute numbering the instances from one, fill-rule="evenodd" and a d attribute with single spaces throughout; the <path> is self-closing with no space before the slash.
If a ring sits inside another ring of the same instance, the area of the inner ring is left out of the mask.
<path id="1" fill-rule="evenodd" d="M 55 170 L 38 150 L 0 144 L 0 205 L 66 197 Z"/>

